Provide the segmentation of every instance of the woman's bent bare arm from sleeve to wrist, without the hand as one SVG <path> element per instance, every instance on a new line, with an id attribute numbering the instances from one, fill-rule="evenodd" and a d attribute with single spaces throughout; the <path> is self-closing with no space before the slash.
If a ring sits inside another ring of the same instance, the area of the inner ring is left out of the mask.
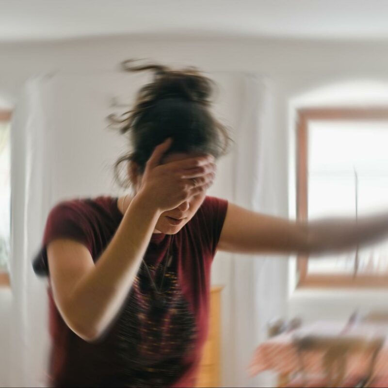
<path id="1" fill-rule="evenodd" d="M 82 339 L 97 339 L 122 306 L 140 266 L 159 210 L 134 198 L 96 265 L 79 242 L 54 240 L 48 246 L 55 303 L 65 323 Z"/>

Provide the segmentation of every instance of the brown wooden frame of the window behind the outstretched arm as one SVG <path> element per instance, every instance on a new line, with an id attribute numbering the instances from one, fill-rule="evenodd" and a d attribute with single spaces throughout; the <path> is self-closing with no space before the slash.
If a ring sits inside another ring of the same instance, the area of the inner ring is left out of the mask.
<path id="1" fill-rule="evenodd" d="M 296 215 L 308 219 L 308 125 L 311 121 L 387 120 L 388 107 L 312 108 L 297 111 L 296 122 Z M 298 288 L 387 288 L 388 275 L 308 275 L 308 256 L 297 257 Z"/>

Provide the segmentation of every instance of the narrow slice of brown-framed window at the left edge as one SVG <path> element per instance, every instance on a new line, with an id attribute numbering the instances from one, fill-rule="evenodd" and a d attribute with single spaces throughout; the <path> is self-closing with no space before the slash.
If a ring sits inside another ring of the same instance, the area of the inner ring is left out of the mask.
<path id="1" fill-rule="evenodd" d="M 7 274 L 11 226 L 11 113 L 0 111 L 0 286 L 8 285 Z"/>

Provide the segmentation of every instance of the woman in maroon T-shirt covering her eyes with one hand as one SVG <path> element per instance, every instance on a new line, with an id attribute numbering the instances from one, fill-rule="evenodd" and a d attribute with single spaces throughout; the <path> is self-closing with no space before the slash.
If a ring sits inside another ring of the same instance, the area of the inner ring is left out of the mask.
<path id="1" fill-rule="evenodd" d="M 62 202 L 48 217 L 38 274 L 49 275 L 51 385 L 190 387 L 207 336 L 217 249 L 321 253 L 388 231 L 388 217 L 291 222 L 206 196 L 225 128 L 211 82 L 160 65 L 121 121 L 132 193 Z"/>

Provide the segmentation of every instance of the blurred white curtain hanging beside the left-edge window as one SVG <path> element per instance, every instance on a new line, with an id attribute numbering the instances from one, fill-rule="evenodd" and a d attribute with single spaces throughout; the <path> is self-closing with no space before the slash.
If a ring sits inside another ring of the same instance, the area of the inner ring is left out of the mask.
<path id="1" fill-rule="evenodd" d="M 11 341 L 12 387 L 40 386 L 48 346 L 46 290 L 32 274 L 31 259 L 50 195 L 44 77 L 30 81 L 11 124 Z M 44 190 L 47 188 L 48 190 Z"/>

